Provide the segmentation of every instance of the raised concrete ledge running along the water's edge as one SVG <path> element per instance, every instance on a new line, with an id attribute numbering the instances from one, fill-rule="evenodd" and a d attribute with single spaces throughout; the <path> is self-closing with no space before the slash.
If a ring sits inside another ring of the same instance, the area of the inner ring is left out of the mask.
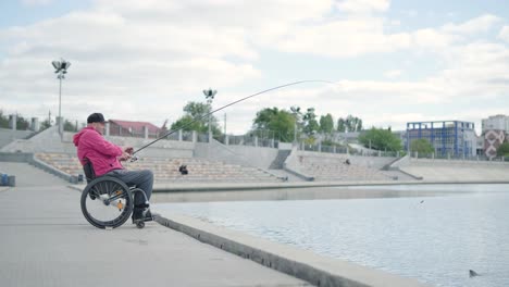
<path id="1" fill-rule="evenodd" d="M 314 286 L 418 287 L 427 286 L 415 279 L 360 266 L 342 260 L 256 238 L 215 226 L 193 217 L 164 214 L 157 222 L 227 252 L 264 266 L 307 280 Z"/>

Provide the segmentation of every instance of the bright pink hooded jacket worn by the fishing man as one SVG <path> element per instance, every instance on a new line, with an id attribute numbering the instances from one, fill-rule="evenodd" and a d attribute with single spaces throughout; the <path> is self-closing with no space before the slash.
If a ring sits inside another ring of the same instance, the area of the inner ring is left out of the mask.
<path id="1" fill-rule="evenodd" d="M 124 169 L 119 161 L 122 148 L 105 140 L 92 127 L 85 127 L 73 137 L 74 146 L 77 147 L 77 155 L 82 165 L 87 158 L 94 165 L 96 176 L 107 174 L 112 170 Z"/>

